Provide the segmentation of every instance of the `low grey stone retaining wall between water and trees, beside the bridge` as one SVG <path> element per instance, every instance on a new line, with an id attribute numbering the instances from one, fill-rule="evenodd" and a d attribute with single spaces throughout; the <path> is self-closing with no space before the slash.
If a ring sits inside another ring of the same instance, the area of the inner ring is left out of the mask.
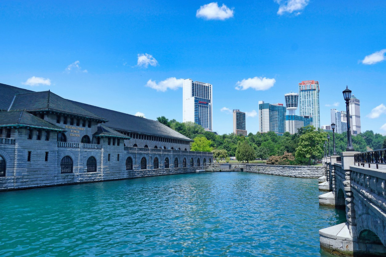
<path id="1" fill-rule="evenodd" d="M 319 178 L 325 175 L 324 166 L 290 166 L 290 165 L 266 165 L 245 164 L 240 166 L 244 172 L 260 173 L 275 176 L 294 178 Z"/>

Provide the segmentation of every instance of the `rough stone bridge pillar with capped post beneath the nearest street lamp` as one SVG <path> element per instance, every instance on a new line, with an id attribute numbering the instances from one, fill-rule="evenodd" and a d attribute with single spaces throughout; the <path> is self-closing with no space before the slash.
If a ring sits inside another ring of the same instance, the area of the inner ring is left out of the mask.
<path id="1" fill-rule="evenodd" d="M 354 208 L 354 196 L 351 191 L 351 170 L 350 166 L 354 166 L 354 154 L 359 152 L 343 152 L 342 153 L 342 169 L 344 170 L 344 191 L 345 191 L 345 205 L 347 225 L 352 237 L 356 237 L 356 220 Z"/>

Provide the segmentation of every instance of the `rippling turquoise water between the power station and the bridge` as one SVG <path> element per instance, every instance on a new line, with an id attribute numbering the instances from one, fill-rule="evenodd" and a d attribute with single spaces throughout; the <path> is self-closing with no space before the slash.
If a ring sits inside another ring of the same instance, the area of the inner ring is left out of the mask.
<path id="1" fill-rule="evenodd" d="M 316 179 L 223 172 L 0 192 L 0 255 L 320 256 Z"/>

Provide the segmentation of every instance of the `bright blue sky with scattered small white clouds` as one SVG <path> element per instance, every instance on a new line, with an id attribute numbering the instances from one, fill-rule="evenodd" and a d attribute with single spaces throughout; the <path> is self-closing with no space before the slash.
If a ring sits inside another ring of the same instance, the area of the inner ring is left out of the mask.
<path id="1" fill-rule="evenodd" d="M 0 83 L 182 121 L 182 79 L 213 85 L 213 130 L 232 109 L 320 85 L 321 125 L 360 99 L 362 132 L 386 133 L 386 1 L 0 2 Z M 1 97 L 1 92 L 0 92 Z M 299 114 L 299 110 L 297 110 Z"/>

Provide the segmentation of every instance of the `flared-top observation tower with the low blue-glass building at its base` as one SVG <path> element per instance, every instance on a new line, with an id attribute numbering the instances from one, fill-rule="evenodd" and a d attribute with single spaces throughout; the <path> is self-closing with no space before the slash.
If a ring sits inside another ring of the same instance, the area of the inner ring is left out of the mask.
<path id="1" fill-rule="evenodd" d="M 284 95 L 285 106 L 288 110 L 288 115 L 285 116 L 285 131 L 289 134 L 298 133 L 301 127 L 312 125 L 312 117 L 296 115 L 296 109 L 298 108 L 298 93 L 287 93 Z"/>

